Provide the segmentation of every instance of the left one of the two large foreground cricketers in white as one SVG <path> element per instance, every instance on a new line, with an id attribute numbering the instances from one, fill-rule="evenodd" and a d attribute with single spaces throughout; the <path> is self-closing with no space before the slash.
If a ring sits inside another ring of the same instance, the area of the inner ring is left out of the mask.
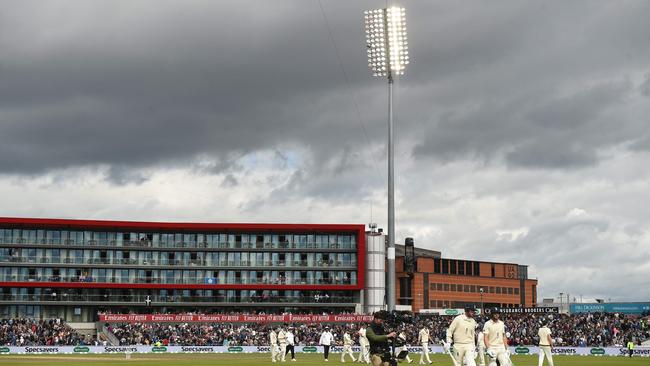
<path id="1" fill-rule="evenodd" d="M 447 329 L 447 341 L 443 345 L 445 352 L 449 352 L 451 344 L 454 344 L 454 358 L 460 366 L 463 361 L 467 366 L 476 366 L 476 308 L 465 307 L 465 314 L 458 315 Z"/>

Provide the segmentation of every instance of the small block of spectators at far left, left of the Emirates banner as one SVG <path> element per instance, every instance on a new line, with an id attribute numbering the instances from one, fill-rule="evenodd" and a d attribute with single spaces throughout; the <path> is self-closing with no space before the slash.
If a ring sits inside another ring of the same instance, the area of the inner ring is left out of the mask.
<path id="1" fill-rule="evenodd" d="M 61 319 L 0 320 L 0 345 L 3 346 L 72 346 L 86 343 L 83 335 Z"/>

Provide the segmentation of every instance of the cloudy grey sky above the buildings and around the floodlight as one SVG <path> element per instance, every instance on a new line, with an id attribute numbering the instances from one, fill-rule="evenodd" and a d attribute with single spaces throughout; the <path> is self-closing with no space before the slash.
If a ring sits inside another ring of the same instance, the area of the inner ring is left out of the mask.
<path id="1" fill-rule="evenodd" d="M 1 215 L 385 227 L 385 4 L 0 0 Z M 650 2 L 401 5 L 398 240 L 650 299 Z"/>

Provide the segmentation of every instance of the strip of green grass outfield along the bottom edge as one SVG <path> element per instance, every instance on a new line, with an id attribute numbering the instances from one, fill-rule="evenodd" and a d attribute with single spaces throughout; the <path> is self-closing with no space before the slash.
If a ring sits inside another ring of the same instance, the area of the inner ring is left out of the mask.
<path id="1" fill-rule="evenodd" d="M 413 357 L 415 356 L 415 357 Z M 411 355 L 413 363 L 417 365 L 420 360 L 419 355 Z M 340 354 L 333 353 L 330 355 L 329 362 L 323 362 L 322 354 L 296 354 L 297 361 L 289 362 L 287 365 L 337 365 L 340 364 Z M 349 360 L 349 359 L 348 359 Z M 434 365 L 453 366 L 449 356 L 432 355 Z M 513 356 L 513 362 L 516 366 L 537 366 L 537 356 Z M 598 357 L 598 356 L 554 356 L 553 360 L 557 366 L 617 366 L 617 365 L 650 365 L 648 357 Z M 24 365 L 70 365 L 70 366 L 103 366 L 125 364 L 132 366 L 219 366 L 219 365 L 241 365 L 257 366 L 271 365 L 270 355 L 267 354 L 132 354 L 131 359 L 126 359 L 124 354 L 110 355 L 0 355 L 1 366 L 24 366 Z M 281 363 L 280 363 L 281 364 Z M 348 361 L 346 364 L 353 364 Z M 546 364 L 546 363 L 545 363 Z M 278 365 L 275 363 L 273 365 Z M 360 365 L 355 363 L 353 365 Z M 401 365 L 408 365 L 403 362 Z"/>

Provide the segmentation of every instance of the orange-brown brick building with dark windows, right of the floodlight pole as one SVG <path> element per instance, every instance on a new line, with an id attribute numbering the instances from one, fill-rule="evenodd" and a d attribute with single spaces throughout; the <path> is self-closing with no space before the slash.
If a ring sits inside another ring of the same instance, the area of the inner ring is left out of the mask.
<path id="1" fill-rule="evenodd" d="M 412 274 L 404 271 L 403 255 L 396 260 L 397 304 L 410 305 L 415 312 L 470 304 L 537 306 L 537 280 L 528 278 L 525 265 L 441 258 L 440 252 L 422 249 L 415 257 Z"/>

